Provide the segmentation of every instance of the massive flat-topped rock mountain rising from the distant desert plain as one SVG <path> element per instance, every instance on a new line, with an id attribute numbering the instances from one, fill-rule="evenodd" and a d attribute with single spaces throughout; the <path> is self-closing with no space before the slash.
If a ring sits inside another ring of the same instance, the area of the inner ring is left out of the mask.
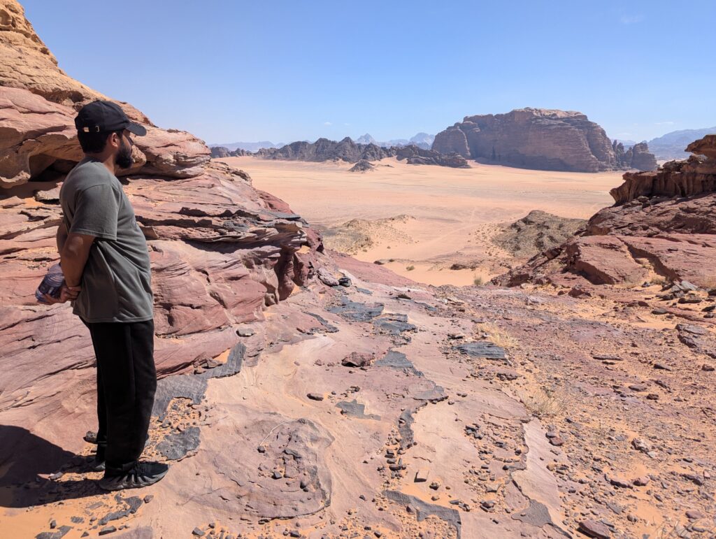
<path id="1" fill-rule="evenodd" d="M 432 150 L 537 170 L 598 172 L 623 167 L 604 129 L 581 112 L 563 110 L 526 108 L 466 116 L 435 135 Z"/>

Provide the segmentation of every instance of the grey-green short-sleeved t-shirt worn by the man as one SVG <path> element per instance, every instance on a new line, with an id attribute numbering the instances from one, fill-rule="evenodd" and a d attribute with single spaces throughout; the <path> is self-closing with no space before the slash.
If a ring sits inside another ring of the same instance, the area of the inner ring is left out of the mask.
<path id="1" fill-rule="evenodd" d="M 70 233 L 93 235 L 74 314 L 86 322 L 141 322 L 153 318 L 147 241 L 120 180 L 85 157 L 59 193 Z"/>

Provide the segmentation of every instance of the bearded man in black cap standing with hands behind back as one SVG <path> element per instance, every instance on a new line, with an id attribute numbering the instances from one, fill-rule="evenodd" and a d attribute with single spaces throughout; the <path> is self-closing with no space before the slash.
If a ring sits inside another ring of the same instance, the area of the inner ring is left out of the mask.
<path id="1" fill-rule="evenodd" d="M 153 296 L 147 243 L 115 177 L 132 166 L 132 135 L 146 135 L 116 103 L 95 101 L 74 120 L 84 159 L 59 198 L 57 247 L 65 286 L 48 303 L 73 301 L 97 357 L 97 469 L 100 487 L 122 490 L 159 481 L 160 462 L 140 462 L 157 387 Z"/>

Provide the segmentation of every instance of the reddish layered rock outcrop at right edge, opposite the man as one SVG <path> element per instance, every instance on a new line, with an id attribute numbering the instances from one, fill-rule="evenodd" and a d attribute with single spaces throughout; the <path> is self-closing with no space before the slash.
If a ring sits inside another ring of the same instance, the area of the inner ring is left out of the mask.
<path id="1" fill-rule="evenodd" d="M 665 279 L 713 286 L 716 274 L 716 135 L 687 148 L 686 161 L 657 172 L 624 174 L 615 205 L 597 212 L 583 233 L 495 278 L 569 284 L 639 284 Z"/>

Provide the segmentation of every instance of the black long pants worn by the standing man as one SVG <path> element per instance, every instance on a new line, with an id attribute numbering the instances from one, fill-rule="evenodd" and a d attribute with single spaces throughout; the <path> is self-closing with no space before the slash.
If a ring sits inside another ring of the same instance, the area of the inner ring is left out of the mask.
<path id="1" fill-rule="evenodd" d="M 107 472 L 125 472 L 144 450 L 157 389 L 154 321 L 85 325 L 97 358 L 97 441 L 107 443 Z"/>

